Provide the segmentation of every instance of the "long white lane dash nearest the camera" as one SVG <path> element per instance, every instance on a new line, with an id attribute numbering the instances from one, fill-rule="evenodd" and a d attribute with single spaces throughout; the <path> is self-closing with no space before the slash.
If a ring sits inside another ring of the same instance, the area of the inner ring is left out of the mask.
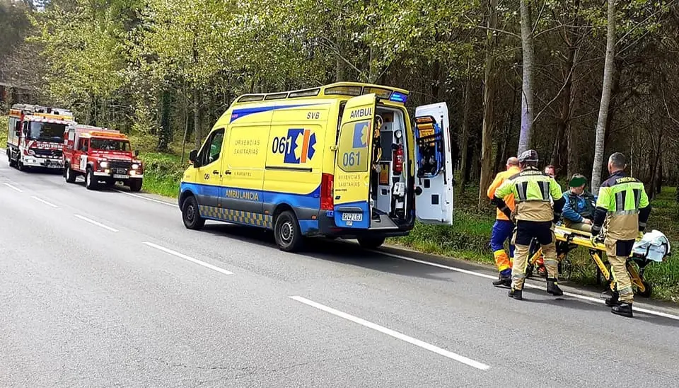
<path id="1" fill-rule="evenodd" d="M 330 313 L 332 315 L 339 316 L 340 318 L 347 319 L 347 320 L 352 321 L 356 324 L 366 326 L 369 329 L 373 329 L 373 330 L 379 331 L 380 333 L 384 333 L 388 336 L 392 336 L 394 338 L 400 339 L 401 341 L 411 343 L 414 346 L 419 346 L 420 348 L 429 350 L 429 351 L 434 352 L 434 353 L 439 354 L 439 355 L 443 355 L 443 357 L 447 357 L 447 358 L 450 358 L 451 360 L 455 360 L 455 361 L 458 361 L 458 362 L 463 363 L 465 365 L 469 365 L 470 367 L 475 367 L 475 368 L 480 369 L 480 370 L 488 370 L 490 368 L 488 365 L 485 365 L 484 363 L 479 363 L 478 361 L 472 360 L 471 358 L 466 358 L 463 355 L 453 353 L 453 352 L 446 350 L 446 349 L 441 349 L 438 346 L 431 345 L 431 343 L 426 343 L 424 341 L 420 341 L 417 338 L 412 338 L 410 336 L 406 336 L 405 334 L 399 333 L 397 331 L 387 329 L 384 326 L 380 326 L 378 324 L 373 324 L 372 322 L 366 321 L 365 319 L 361 319 L 357 316 L 353 316 L 351 314 L 341 312 L 340 310 L 333 309 L 332 307 L 327 307 L 324 304 L 313 302 L 313 300 L 309 300 L 309 299 L 299 297 L 299 296 L 294 296 L 294 297 L 289 297 L 289 298 L 294 299 L 297 302 L 307 304 L 308 306 L 315 307 L 316 309 L 323 310 L 324 312 Z"/>

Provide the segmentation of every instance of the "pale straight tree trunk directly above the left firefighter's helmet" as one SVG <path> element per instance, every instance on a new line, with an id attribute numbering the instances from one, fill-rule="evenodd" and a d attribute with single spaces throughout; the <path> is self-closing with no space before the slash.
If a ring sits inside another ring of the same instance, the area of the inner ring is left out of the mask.
<path id="1" fill-rule="evenodd" d="M 528 0 L 521 0 L 521 47 L 523 49 L 523 86 L 521 91 L 521 134 L 518 137 L 518 154 L 530 147 L 533 137 L 533 18 Z"/>

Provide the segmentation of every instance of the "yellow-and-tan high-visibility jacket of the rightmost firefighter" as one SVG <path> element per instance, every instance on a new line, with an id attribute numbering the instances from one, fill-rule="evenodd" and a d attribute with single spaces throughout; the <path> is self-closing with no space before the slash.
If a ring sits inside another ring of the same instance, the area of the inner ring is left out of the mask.
<path id="1" fill-rule="evenodd" d="M 605 224 L 607 237 L 634 240 L 646 228 L 650 213 L 644 183 L 627 176 L 625 171 L 617 171 L 599 188 L 592 232 L 598 234 Z"/>

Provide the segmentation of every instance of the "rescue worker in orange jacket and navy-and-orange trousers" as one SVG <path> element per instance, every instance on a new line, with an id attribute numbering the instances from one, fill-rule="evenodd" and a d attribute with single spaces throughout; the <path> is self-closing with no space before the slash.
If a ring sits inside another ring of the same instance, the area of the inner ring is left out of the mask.
<path id="1" fill-rule="evenodd" d="M 520 173 L 521 169 L 518 168 L 518 158 L 512 156 L 507 159 L 506 171 L 497 173 L 495 179 L 490 184 L 488 188 L 487 195 L 488 198 L 493 200 L 495 198 L 495 190 L 502 186 L 502 183 L 507 180 L 510 176 L 514 176 Z M 514 210 L 514 196 L 513 194 L 507 195 L 504 198 L 504 202 L 510 211 Z M 493 256 L 495 258 L 495 265 L 499 271 L 497 280 L 493 281 L 495 287 L 505 286 L 511 287 L 511 261 L 514 257 L 514 246 L 509 244 L 509 256 L 504 250 L 504 242 L 509 240 L 512 232 L 514 231 L 514 223 L 509 217 L 507 217 L 504 212 L 497 210 L 497 215 L 495 216 L 495 224 L 493 224 L 493 229 L 490 235 L 490 247 L 493 250 Z"/>

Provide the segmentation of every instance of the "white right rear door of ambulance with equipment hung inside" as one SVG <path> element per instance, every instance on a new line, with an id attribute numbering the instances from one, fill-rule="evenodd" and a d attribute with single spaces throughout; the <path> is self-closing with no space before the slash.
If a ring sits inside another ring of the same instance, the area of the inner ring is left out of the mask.
<path id="1" fill-rule="evenodd" d="M 448 106 L 415 108 L 415 213 L 425 224 L 453 224 L 453 161 Z"/>

